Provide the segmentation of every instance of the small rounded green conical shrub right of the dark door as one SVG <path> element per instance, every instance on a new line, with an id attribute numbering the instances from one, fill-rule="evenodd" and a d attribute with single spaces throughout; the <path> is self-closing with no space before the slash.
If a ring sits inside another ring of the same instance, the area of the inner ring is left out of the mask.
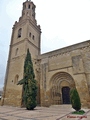
<path id="1" fill-rule="evenodd" d="M 76 111 L 79 111 L 81 109 L 80 97 L 75 88 L 70 90 L 70 101 L 73 109 Z"/>

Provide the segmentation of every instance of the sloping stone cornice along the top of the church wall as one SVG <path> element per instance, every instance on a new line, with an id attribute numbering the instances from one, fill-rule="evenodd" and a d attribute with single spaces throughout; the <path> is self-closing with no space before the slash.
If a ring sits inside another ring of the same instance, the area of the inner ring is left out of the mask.
<path id="1" fill-rule="evenodd" d="M 90 47 L 90 40 L 87 40 L 85 42 L 81 42 L 81 43 L 77 43 L 71 46 L 67 46 L 64 48 L 60 48 L 51 52 L 47 52 L 44 54 L 41 54 L 40 56 L 38 56 L 38 59 L 44 59 L 46 57 L 53 57 L 53 56 L 57 56 L 57 55 L 64 55 L 64 54 L 69 54 L 70 52 L 74 51 L 74 50 L 85 50 L 87 48 Z"/>

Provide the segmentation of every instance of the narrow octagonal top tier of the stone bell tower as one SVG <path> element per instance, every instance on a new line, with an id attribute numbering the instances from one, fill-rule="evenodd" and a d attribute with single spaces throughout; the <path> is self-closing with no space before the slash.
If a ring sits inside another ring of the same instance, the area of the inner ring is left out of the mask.
<path id="1" fill-rule="evenodd" d="M 18 22 L 15 21 L 14 26 L 16 26 L 19 22 L 23 22 L 24 20 L 28 20 L 29 22 L 32 22 L 32 24 L 36 25 L 39 30 L 41 30 L 40 25 L 37 25 L 35 8 L 36 8 L 36 6 L 32 2 L 32 0 L 25 0 L 25 2 L 23 2 L 22 15 L 19 18 Z"/>

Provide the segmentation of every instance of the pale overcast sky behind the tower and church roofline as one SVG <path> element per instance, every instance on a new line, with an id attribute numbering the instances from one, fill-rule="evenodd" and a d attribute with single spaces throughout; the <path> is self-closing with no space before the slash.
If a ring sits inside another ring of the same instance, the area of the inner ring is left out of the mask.
<path id="1" fill-rule="evenodd" d="M 0 88 L 4 85 L 12 27 L 25 0 L 0 0 Z M 90 39 L 90 0 L 33 0 L 41 53 Z"/>

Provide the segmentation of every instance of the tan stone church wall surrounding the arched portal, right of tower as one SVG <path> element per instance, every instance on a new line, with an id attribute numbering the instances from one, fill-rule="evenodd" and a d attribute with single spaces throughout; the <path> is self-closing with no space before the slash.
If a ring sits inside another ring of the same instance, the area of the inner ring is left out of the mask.
<path id="1" fill-rule="evenodd" d="M 64 79 L 62 76 L 61 78 L 53 78 L 54 75 L 64 72 L 73 78 L 73 81 L 75 82 L 75 87 L 77 88 L 80 95 L 82 106 L 89 107 L 90 41 L 82 42 L 76 45 L 45 53 L 40 55 L 38 58 L 41 60 L 40 95 L 42 106 L 52 104 L 52 100 L 50 98 L 50 83 L 52 79 L 54 79 L 55 81 L 56 79 L 67 81 L 67 77 L 64 77 Z M 70 84 L 71 81 L 68 81 L 68 83 Z M 60 81 L 58 81 L 58 84 L 60 84 L 61 89 Z"/>

